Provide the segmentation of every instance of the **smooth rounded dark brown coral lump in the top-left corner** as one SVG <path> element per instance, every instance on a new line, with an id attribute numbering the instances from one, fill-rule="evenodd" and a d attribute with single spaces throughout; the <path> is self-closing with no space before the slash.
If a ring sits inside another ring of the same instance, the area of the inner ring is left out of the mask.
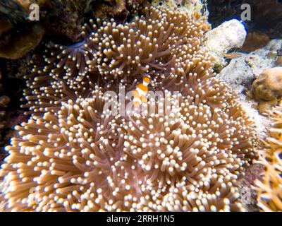
<path id="1" fill-rule="evenodd" d="M 42 41 L 45 29 L 29 20 L 30 4 L 32 1 L 1 1 L 0 57 L 19 59 Z"/>

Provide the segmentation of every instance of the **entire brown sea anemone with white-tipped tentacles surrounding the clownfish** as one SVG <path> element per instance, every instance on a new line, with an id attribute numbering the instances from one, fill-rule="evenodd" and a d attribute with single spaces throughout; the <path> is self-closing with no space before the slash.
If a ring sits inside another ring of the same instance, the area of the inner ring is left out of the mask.
<path id="1" fill-rule="evenodd" d="M 82 42 L 52 46 L 26 76 L 31 117 L 6 147 L 0 208 L 243 210 L 236 182 L 255 156 L 255 129 L 214 78 L 203 20 L 147 8 L 125 25 L 90 24 Z M 164 96 L 149 97 L 149 111 L 111 114 L 105 92 L 145 74 Z"/>

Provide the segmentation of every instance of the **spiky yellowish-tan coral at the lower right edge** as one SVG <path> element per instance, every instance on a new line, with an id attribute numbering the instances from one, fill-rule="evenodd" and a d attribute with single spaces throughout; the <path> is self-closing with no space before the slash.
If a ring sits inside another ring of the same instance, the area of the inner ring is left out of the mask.
<path id="1" fill-rule="evenodd" d="M 269 113 L 271 129 L 260 153 L 264 165 L 262 181 L 257 180 L 257 205 L 262 211 L 282 211 L 282 104 Z"/>

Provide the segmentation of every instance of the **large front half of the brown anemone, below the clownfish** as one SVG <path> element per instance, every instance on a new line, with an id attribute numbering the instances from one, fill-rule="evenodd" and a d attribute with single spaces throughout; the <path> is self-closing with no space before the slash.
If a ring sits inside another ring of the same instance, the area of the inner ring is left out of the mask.
<path id="1" fill-rule="evenodd" d="M 1 169 L 6 209 L 241 210 L 235 183 L 255 134 L 247 118 L 236 105 L 221 112 L 166 95 L 163 117 L 153 100 L 156 114 L 113 117 L 97 88 L 16 126 Z"/>

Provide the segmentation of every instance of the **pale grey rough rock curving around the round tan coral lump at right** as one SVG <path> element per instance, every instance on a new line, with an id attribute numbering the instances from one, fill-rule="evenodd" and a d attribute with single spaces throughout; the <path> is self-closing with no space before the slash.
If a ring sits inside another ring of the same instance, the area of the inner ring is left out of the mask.
<path id="1" fill-rule="evenodd" d="M 271 40 L 266 47 L 257 49 L 250 54 L 243 54 L 243 57 L 232 59 L 230 64 L 226 66 L 216 78 L 225 81 L 235 93 L 239 95 L 240 103 L 245 107 L 250 117 L 257 124 L 259 136 L 264 136 L 265 118 L 259 114 L 255 100 L 250 100 L 247 93 L 252 90 L 252 83 L 263 71 L 271 69 L 275 66 L 278 52 L 282 48 L 281 40 Z M 261 111 L 267 108 L 265 103 L 259 107 Z"/>

